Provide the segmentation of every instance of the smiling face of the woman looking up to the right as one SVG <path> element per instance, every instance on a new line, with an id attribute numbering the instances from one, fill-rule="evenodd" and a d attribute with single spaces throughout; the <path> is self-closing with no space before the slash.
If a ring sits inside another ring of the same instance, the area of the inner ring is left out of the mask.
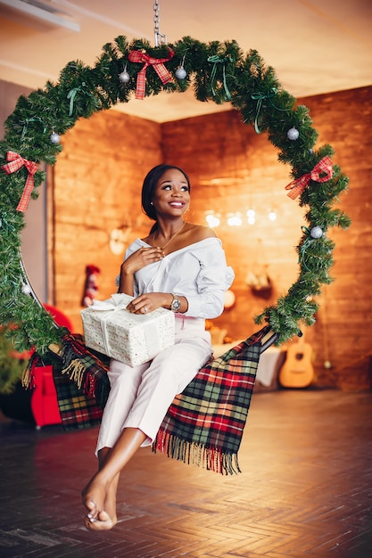
<path id="1" fill-rule="evenodd" d="M 186 176 L 178 168 L 169 168 L 158 180 L 153 207 L 158 217 L 182 217 L 190 203 Z"/>

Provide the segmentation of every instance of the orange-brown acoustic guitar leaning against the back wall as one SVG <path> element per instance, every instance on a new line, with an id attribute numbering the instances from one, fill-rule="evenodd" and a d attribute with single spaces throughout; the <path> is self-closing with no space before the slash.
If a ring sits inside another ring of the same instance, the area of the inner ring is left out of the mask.
<path id="1" fill-rule="evenodd" d="M 285 363 L 279 371 L 278 381 L 283 388 L 306 388 L 314 379 L 311 364 L 312 349 L 305 338 L 290 345 L 287 349 Z"/>

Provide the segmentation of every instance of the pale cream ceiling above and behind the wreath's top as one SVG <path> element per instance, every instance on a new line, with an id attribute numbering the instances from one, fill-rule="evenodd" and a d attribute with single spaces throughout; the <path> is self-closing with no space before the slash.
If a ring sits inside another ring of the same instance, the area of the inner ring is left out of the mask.
<path id="1" fill-rule="evenodd" d="M 5 0 L 4 0 L 5 1 Z M 20 0 L 6 0 L 17 4 Z M 37 0 L 65 12 L 79 32 L 21 16 L 0 0 L 0 79 L 43 87 L 71 60 L 95 63 L 119 35 L 154 44 L 153 0 Z M 35 4 L 35 0 L 26 0 Z M 295 97 L 372 83 L 371 0 L 159 0 L 160 30 L 168 42 L 235 39 L 256 49 Z M 191 90 L 159 94 L 116 107 L 159 122 L 226 110 L 199 103 Z"/>

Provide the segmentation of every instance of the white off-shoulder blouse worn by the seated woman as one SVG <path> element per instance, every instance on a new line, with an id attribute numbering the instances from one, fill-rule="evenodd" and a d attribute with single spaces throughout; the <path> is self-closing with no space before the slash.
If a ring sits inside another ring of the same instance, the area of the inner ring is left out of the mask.
<path id="1" fill-rule="evenodd" d="M 149 246 L 136 239 L 125 253 Z M 212 319 L 222 314 L 225 292 L 234 281 L 234 271 L 227 266 L 219 238 L 211 237 L 170 252 L 159 262 L 142 267 L 135 274 L 134 294 L 172 292 L 186 297 L 183 316 Z"/>

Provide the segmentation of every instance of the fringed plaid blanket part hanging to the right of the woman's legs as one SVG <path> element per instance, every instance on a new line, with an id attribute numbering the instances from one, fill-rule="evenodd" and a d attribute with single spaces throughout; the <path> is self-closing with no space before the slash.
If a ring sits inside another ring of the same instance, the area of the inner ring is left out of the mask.
<path id="1" fill-rule="evenodd" d="M 237 453 L 268 329 L 203 366 L 173 399 L 153 451 L 221 474 L 240 472 Z"/>

